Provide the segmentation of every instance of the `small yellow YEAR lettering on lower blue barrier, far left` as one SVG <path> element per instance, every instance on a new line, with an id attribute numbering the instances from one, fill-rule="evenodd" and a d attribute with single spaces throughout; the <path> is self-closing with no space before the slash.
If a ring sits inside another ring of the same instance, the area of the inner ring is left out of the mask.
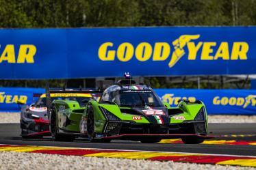
<path id="1" fill-rule="evenodd" d="M 0 103 L 12 104 L 22 102 L 24 104 L 27 103 L 27 96 L 23 95 L 9 95 L 5 94 L 5 92 L 0 91 Z"/>

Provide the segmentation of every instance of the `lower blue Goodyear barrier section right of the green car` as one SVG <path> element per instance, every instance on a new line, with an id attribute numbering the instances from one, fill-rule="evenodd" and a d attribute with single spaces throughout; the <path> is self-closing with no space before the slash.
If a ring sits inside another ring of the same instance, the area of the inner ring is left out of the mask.
<path id="1" fill-rule="evenodd" d="M 175 107 L 181 99 L 202 100 L 209 115 L 256 115 L 256 90 L 155 89 L 155 91 L 172 107 Z"/>

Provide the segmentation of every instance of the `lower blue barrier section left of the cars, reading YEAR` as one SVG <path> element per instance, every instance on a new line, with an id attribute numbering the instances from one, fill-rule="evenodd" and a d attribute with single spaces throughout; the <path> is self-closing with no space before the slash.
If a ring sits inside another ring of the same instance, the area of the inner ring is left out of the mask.
<path id="1" fill-rule="evenodd" d="M 44 93 L 44 89 L 38 88 L 19 88 L 19 87 L 0 87 L 0 112 L 18 112 L 22 104 L 30 105 L 36 102 L 33 94 Z"/>

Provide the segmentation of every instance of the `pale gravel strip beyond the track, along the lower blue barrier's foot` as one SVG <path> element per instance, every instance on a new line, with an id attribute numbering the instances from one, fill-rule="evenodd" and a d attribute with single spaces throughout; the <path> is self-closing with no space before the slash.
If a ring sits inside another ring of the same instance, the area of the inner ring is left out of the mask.
<path id="1" fill-rule="evenodd" d="M 209 123 L 256 123 L 256 115 L 208 115 Z M 20 113 L 0 112 L 0 123 L 19 123 Z"/>

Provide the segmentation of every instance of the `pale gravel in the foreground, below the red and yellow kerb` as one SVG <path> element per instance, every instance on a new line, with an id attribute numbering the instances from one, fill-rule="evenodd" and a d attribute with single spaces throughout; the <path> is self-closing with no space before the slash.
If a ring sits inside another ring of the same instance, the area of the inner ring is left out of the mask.
<path id="1" fill-rule="evenodd" d="M 35 154 L 21 152 L 0 152 L 0 169 L 254 169 L 227 165 L 203 165 L 180 162 L 160 162 L 118 158 L 97 158 L 82 156 L 62 156 L 56 154 Z"/>

